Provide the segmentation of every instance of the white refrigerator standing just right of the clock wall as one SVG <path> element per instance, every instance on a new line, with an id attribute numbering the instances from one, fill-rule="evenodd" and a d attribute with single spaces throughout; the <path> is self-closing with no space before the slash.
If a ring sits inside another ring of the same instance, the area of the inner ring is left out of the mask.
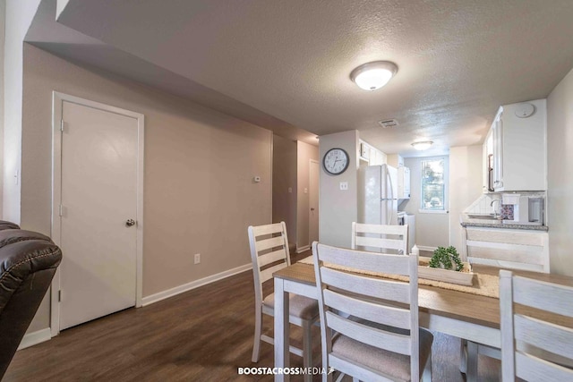
<path id="1" fill-rule="evenodd" d="M 358 176 L 358 221 L 398 225 L 398 170 L 388 165 L 364 166 Z"/>

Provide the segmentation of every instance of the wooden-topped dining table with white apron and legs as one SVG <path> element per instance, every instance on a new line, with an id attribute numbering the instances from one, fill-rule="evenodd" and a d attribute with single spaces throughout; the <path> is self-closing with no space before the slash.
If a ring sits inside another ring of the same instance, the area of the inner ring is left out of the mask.
<path id="1" fill-rule="evenodd" d="M 498 276 L 500 268 L 474 265 L 475 273 Z M 556 284 L 573 286 L 573 277 L 513 270 L 514 274 Z M 296 293 L 318 300 L 314 267 L 295 263 L 273 274 L 275 285 L 275 367 L 289 365 L 288 293 Z M 418 285 L 420 326 L 468 341 L 467 381 L 477 378 L 477 346 L 483 344 L 500 348 L 500 301 L 473 293 Z M 536 312 L 540 318 L 573 327 L 568 318 Z M 288 375 L 275 375 L 276 381 L 288 380 Z"/>

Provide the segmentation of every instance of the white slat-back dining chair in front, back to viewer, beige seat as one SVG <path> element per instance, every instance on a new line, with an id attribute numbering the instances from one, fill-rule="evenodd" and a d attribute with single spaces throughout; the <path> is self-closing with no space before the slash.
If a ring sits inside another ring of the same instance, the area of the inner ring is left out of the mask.
<path id="1" fill-rule="evenodd" d="M 418 258 L 312 243 L 319 288 L 323 368 L 354 380 L 432 378 L 432 341 L 418 327 Z M 338 267 L 351 267 L 354 273 Z M 397 281 L 360 275 L 408 276 Z M 398 302 L 389 305 L 389 301 Z M 423 373 L 424 366 L 426 372 Z M 331 381 L 332 374 L 322 376 Z"/>

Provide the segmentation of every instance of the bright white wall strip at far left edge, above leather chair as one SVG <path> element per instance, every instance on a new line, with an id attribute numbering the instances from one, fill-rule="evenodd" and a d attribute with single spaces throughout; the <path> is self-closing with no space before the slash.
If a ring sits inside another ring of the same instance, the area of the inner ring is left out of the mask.
<path id="1" fill-rule="evenodd" d="M 5 8 L 3 216 L 14 223 L 21 220 L 22 47 L 39 2 L 6 0 Z"/>

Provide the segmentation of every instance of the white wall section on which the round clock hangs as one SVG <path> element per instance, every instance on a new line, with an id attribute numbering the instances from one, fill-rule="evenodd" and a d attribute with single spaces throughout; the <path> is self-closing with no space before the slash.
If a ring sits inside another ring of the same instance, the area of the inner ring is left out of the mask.
<path id="1" fill-rule="evenodd" d="M 350 164 L 343 174 L 330 175 L 322 167 L 322 157 L 329 149 L 345 149 Z M 319 145 L 321 162 L 320 242 L 350 248 L 352 222 L 358 218 L 358 132 L 322 135 Z M 348 190 L 341 191 L 340 183 Z"/>

